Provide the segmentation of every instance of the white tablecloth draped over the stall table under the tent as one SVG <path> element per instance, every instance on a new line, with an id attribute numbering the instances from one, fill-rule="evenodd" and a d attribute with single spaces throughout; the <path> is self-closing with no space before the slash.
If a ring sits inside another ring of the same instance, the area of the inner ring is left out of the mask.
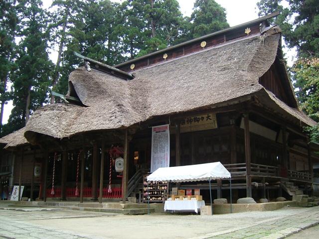
<path id="1" fill-rule="evenodd" d="M 164 211 L 184 211 L 184 212 L 198 212 L 201 206 L 205 206 L 204 201 L 197 200 L 176 200 L 165 201 Z"/>

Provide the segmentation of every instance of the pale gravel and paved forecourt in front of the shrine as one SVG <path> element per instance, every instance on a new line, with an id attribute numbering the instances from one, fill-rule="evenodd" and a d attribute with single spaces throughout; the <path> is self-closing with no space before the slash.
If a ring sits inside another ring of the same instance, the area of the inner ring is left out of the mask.
<path id="1" fill-rule="evenodd" d="M 110 239 L 208 239 L 283 238 L 289 232 L 319 223 L 319 207 L 284 208 L 268 212 L 245 212 L 214 216 L 112 215 L 62 211 L 0 210 L 0 236 L 17 238 L 110 238 Z M 24 229 L 28 228 L 29 234 Z M 14 229 L 15 228 L 15 229 Z M 287 231 L 288 230 L 288 231 Z M 23 237 L 24 238 L 24 237 Z"/>

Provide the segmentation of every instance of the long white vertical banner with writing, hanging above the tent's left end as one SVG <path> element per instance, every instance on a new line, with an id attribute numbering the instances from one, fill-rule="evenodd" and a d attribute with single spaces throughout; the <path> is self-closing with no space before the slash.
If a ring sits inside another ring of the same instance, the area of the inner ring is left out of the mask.
<path id="1" fill-rule="evenodd" d="M 152 127 L 151 173 L 169 167 L 169 124 Z"/>

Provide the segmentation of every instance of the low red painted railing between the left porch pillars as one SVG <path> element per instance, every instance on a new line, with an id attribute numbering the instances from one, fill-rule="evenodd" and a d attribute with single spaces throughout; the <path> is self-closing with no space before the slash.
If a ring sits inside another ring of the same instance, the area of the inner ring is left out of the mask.
<path id="1" fill-rule="evenodd" d="M 80 188 L 78 189 L 79 195 L 75 195 L 76 188 L 66 188 L 66 197 L 80 197 Z M 99 195 L 100 190 L 97 190 L 97 195 Z M 46 197 L 47 198 L 60 198 L 61 197 L 61 189 L 54 188 L 54 194 L 51 194 L 51 188 L 46 190 Z M 92 188 L 83 188 L 83 197 L 90 198 L 92 197 Z M 122 198 L 122 189 L 118 187 L 112 188 L 112 192 L 108 193 L 108 188 L 103 188 L 103 198 Z"/>

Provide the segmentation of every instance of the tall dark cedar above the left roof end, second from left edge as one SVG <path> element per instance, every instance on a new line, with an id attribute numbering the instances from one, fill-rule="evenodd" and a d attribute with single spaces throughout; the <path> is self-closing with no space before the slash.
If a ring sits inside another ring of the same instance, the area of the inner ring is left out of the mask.
<path id="1" fill-rule="evenodd" d="M 47 15 L 40 0 L 19 1 L 19 32 L 16 70 L 12 79 L 14 108 L 8 124 L 12 129 L 25 125 L 30 114 L 47 103 L 53 65 L 47 53 Z"/>

